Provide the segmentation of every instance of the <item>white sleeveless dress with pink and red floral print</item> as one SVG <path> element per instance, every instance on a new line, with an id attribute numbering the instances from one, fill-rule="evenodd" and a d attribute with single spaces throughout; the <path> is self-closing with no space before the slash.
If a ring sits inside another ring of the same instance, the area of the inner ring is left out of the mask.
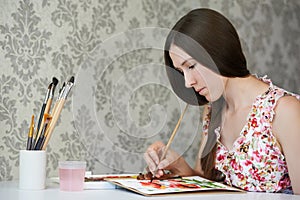
<path id="1" fill-rule="evenodd" d="M 262 80 L 269 90 L 256 98 L 231 150 L 219 141 L 220 128 L 215 130 L 216 169 L 224 173 L 229 185 L 247 191 L 281 192 L 291 189 L 291 182 L 285 157 L 272 133 L 274 108 L 280 97 L 293 95 L 300 100 L 300 96 L 274 86 L 266 77 Z"/>

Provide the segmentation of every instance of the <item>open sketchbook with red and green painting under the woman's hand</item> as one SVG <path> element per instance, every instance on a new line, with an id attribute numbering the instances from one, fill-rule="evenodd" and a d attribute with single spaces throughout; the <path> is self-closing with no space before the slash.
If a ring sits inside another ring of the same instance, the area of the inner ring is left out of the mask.
<path id="1" fill-rule="evenodd" d="M 240 189 L 210 181 L 199 176 L 188 176 L 174 179 L 137 180 L 137 179 L 106 179 L 121 188 L 145 195 L 164 195 L 185 192 L 243 192 Z"/>

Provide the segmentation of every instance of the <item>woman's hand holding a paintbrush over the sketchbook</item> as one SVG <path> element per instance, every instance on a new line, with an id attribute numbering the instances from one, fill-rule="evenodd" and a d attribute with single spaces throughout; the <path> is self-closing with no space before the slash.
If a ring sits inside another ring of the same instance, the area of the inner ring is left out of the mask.
<path id="1" fill-rule="evenodd" d="M 165 144 L 157 141 L 150 145 L 144 154 L 149 171 L 157 178 L 164 175 L 163 170 L 169 170 L 176 175 L 183 175 L 187 170 L 193 171 L 185 160 L 175 151 L 169 149 L 164 159 L 161 156 L 165 150 Z"/>

